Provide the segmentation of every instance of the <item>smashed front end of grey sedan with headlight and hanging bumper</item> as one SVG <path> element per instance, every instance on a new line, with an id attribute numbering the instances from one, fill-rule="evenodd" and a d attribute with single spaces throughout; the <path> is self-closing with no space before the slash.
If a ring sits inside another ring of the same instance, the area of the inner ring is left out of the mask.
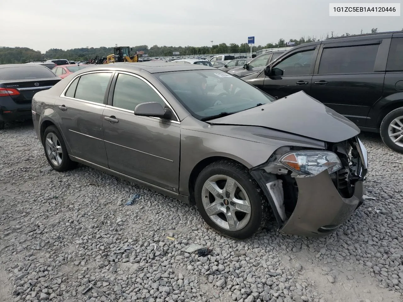
<path id="1" fill-rule="evenodd" d="M 251 170 L 279 231 L 300 236 L 333 232 L 361 205 L 368 157 L 357 137 L 326 149 L 281 147 Z"/>

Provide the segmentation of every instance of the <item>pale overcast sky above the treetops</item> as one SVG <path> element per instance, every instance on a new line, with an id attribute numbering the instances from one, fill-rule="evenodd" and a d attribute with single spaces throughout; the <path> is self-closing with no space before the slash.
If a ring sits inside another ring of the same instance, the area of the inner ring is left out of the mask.
<path id="1" fill-rule="evenodd" d="M 369 32 L 372 27 L 378 31 L 403 27 L 403 17 L 329 17 L 330 2 L 338 1 L 3 0 L 0 46 L 41 52 L 115 43 L 211 46 L 211 40 L 214 44 L 245 43 L 248 36 L 255 36 L 255 45 L 266 45 L 280 38 L 321 38 L 331 31 L 341 35 L 361 29 Z"/>

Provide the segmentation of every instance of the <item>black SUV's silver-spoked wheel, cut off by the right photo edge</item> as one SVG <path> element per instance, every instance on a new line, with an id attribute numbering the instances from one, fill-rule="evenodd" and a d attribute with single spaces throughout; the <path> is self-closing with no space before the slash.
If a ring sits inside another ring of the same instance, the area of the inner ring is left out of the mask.
<path id="1" fill-rule="evenodd" d="M 380 124 L 382 141 L 391 149 L 403 153 L 403 107 L 389 112 Z"/>

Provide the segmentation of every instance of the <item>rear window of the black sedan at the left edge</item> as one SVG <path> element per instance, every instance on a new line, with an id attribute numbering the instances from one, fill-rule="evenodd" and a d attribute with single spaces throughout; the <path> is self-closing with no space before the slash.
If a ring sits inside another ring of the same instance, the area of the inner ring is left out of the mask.
<path id="1" fill-rule="evenodd" d="M 0 80 L 44 79 L 55 77 L 52 70 L 43 66 L 0 68 Z"/>

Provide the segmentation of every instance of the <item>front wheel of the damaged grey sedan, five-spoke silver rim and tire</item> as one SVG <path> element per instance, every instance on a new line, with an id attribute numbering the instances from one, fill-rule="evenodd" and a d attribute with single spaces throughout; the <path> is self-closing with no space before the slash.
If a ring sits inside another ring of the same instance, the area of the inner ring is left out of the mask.
<path id="1" fill-rule="evenodd" d="M 266 225 L 268 201 L 247 168 L 231 160 L 208 165 L 195 183 L 197 209 L 216 232 L 243 240 Z"/>

